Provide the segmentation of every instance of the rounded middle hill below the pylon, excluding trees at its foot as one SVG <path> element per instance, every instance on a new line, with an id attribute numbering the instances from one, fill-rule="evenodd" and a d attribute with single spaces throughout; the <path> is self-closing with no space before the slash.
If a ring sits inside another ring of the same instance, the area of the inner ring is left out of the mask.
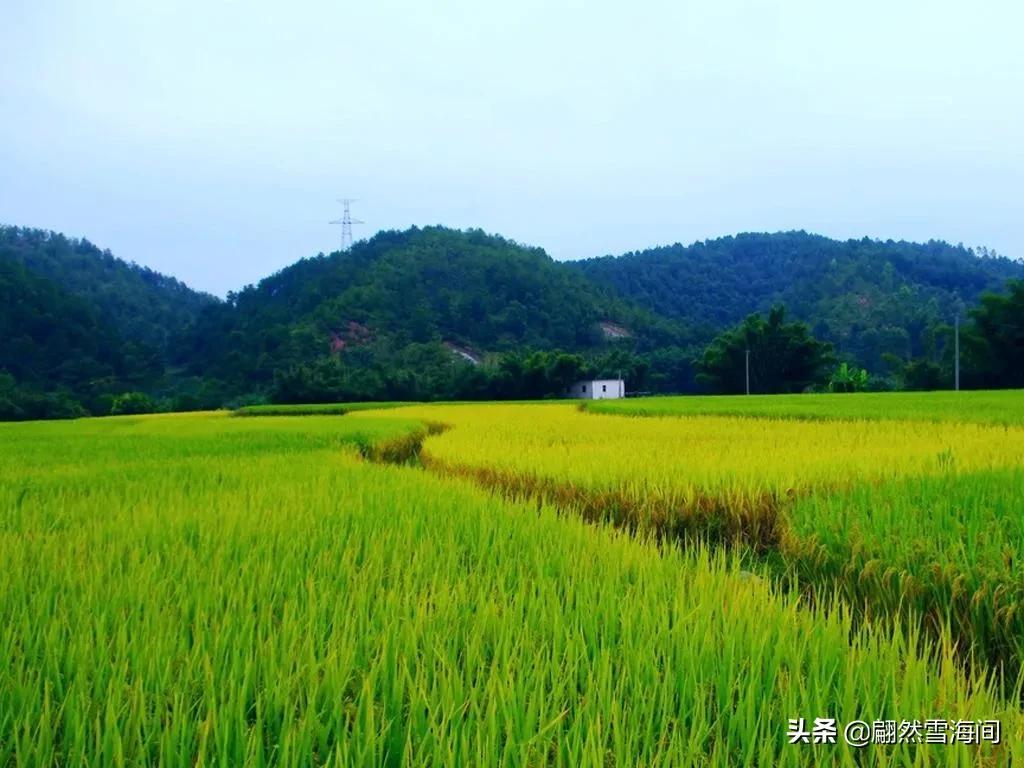
<path id="1" fill-rule="evenodd" d="M 414 227 L 303 259 L 232 294 L 203 313 L 180 351 L 196 373 L 259 387 L 275 370 L 332 354 L 356 366 L 427 345 L 466 361 L 524 348 L 650 347 L 679 337 L 674 324 L 596 288 L 541 249 L 479 230 Z"/>

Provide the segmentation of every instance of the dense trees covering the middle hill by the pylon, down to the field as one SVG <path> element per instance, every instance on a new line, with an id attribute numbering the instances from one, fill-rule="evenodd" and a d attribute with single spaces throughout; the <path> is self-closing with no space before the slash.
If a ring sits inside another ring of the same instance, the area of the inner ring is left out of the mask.
<path id="1" fill-rule="evenodd" d="M 608 338 L 602 323 L 628 335 Z M 540 249 L 479 230 L 414 227 L 304 259 L 232 294 L 204 310 L 178 352 L 195 375 L 287 401 L 428 399 L 549 393 L 500 384 L 518 380 L 529 350 L 564 349 L 596 364 L 612 349 L 649 353 L 688 341 L 679 324 Z"/>

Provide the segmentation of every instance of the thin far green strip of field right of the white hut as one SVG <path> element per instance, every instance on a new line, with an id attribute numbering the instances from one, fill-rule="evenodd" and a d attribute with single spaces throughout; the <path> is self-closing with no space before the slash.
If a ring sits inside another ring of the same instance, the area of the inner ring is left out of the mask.
<path id="1" fill-rule="evenodd" d="M 585 408 L 620 416 L 897 419 L 1024 426 L 1024 392 L 1019 390 L 639 397 L 589 400 Z"/>

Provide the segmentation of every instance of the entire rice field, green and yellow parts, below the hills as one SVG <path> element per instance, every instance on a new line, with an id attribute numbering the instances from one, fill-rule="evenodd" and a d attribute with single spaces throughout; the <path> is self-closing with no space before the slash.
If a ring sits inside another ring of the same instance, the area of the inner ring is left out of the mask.
<path id="1" fill-rule="evenodd" d="M 1011 765 L 1022 458 L 558 403 L 0 425 L 0 765 Z M 927 719 L 1001 738 L 843 738 Z"/>

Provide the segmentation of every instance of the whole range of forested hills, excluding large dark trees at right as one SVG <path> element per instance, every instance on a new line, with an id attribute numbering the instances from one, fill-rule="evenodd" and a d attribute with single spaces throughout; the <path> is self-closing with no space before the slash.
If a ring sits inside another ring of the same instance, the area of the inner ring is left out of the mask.
<path id="1" fill-rule="evenodd" d="M 953 315 L 1013 278 L 1024 264 L 939 242 L 752 233 L 557 262 L 434 226 L 302 259 L 223 301 L 87 241 L 3 227 L 0 410 L 106 413 L 132 390 L 175 409 L 528 396 L 546 384 L 520 380 L 557 368 L 556 350 L 633 389 L 691 391 L 702 346 L 775 303 L 884 377 L 893 357 L 940 355 Z"/>

